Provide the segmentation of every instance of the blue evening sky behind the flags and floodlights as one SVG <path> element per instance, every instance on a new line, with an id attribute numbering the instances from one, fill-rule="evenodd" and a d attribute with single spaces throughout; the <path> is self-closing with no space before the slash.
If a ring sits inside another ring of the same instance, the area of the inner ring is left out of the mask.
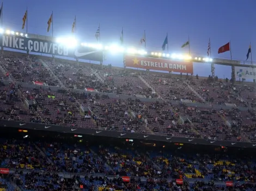
<path id="1" fill-rule="evenodd" d="M 126 46 L 138 46 L 145 29 L 147 49 L 151 51 L 161 50 L 168 32 L 170 53 L 187 52 L 180 47 L 189 35 L 194 55 L 206 56 L 210 37 L 212 58 L 229 59 L 229 52 L 217 54 L 218 48 L 229 41 L 233 59 L 244 61 L 250 42 L 254 58 L 255 0 L 3 0 L 3 27 L 21 30 L 27 7 L 28 33 L 51 35 L 46 28 L 53 11 L 54 36 L 71 34 L 76 16 L 77 36 L 84 42 L 96 42 L 94 35 L 100 23 L 104 44 L 119 42 L 124 27 Z M 108 55 L 106 59 L 105 64 L 123 66 L 121 56 Z M 230 67 L 216 66 L 219 78 L 230 78 L 230 72 Z M 194 74 L 210 73 L 210 64 L 194 63 Z"/>

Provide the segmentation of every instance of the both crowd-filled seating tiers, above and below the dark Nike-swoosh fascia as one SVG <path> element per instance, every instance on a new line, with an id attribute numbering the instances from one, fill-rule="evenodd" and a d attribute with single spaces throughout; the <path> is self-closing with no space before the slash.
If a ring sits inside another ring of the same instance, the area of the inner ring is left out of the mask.
<path id="1" fill-rule="evenodd" d="M 249 84 L 9 52 L 0 69 L 0 123 L 256 142 Z M 8 130 L 0 191 L 256 190 L 248 150 Z"/>

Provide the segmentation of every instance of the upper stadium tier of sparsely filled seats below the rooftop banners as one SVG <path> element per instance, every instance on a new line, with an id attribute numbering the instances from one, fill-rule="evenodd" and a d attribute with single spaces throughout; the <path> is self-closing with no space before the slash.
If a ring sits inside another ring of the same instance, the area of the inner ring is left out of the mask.
<path id="1" fill-rule="evenodd" d="M 256 145 L 254 85 L 247 82 L 14 52 L 3 52 L 0 68 L 3 126 Z"/>

